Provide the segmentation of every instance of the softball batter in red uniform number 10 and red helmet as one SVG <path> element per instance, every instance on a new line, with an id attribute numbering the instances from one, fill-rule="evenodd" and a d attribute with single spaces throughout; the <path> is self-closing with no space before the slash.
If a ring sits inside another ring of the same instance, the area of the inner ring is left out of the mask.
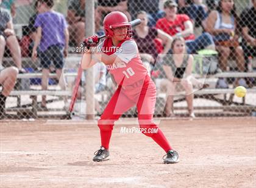
<path id="1" fill-rule="evenodd" d="M 124 13 L 112 12 L 105 16 L 106 39 L 98 50 L 87 50 L 82 59 L 82 68 L 88 69 L 96 62 L 103 62 L 118 84 L 118 89 L 107 104 L 98 127 L 101 133 L 101 147 L 94 153 L 93 161 L 104 161 L 109 156 L 109 143 L 115 121 L 133 106 L 137 106 L 138 122 L 142 133 L 151 137 L 166 152 L 164 163 L 178 163 L 179 155 L 169 145 L 163 132 L 154 124 L 156 89 L 146 68 L 141 62 L 136 42 L 132 39 L 132 28 Z M 88 40 L 93 42 L 88 42 Z M 98 44 L 98 36 L 85 39 L 87 47 Z M 152 129 L 157 129 L 151 133 Z"/>

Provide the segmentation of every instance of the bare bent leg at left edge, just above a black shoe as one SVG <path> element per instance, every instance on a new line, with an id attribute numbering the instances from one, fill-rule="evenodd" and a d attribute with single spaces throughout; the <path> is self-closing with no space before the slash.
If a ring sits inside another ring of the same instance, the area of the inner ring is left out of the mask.
<path id="1" fill-rule="evenodd" d="M 4 96 L 8 96 L 15 86 L 18 69 L 16 67 L 8 67 L 4 70 L 1 70 L 0 74 L 0 84 L 3 87 L 1 93 Z"/>

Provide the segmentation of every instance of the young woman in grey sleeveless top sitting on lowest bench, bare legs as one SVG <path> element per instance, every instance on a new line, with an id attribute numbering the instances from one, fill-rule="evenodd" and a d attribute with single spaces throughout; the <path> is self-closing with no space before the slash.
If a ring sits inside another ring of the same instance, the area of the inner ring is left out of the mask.
<path id="1" fill-rule="evenodd" d="M 182 37 L 175 38 L 171 44 L 172 55 L 166 55 L 163 58 L 163 70 L 167 78 L 166 89 L 167 99 L 164 110 L 165 116 L 173 116 L 173 98 L 176 91 L 177 83 L 180 83 L 185 89 L 186 101 L 188 104 L 188 113 L 194 118 L 193 112 L 193 84 L 199 88 L 207 87 L 197 81 L 192 73 L 193 56 L 186 54 L 185 40 Z"/>

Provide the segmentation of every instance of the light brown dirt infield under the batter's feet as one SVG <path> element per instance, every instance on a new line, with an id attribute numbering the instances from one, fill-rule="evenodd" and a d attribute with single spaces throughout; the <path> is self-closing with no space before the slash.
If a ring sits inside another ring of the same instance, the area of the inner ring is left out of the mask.
<path id="1" fill-rule="evenodd" d="M 141 133 L 120 133 L 133 126 L 115 126 L 110 160 L 94 163 L 96 124 L 0 123 L 0 187 L 256 187 L 256 118 L 162 120 L 178 164 Z"/>

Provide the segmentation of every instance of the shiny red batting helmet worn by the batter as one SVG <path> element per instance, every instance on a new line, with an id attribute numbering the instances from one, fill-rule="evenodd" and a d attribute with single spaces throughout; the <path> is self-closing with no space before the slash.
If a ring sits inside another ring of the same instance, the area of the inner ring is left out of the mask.
<path id="1" fill-rule="evenodd" d="M 127 26 L 126 40 L 132 37 L 132 26 L 130 25 L 126 15 L 122 12 L 111 12 L 105 16 L 103 21 L 104 32 L 108 38 L 114 36 L 113 28 Z"/>

